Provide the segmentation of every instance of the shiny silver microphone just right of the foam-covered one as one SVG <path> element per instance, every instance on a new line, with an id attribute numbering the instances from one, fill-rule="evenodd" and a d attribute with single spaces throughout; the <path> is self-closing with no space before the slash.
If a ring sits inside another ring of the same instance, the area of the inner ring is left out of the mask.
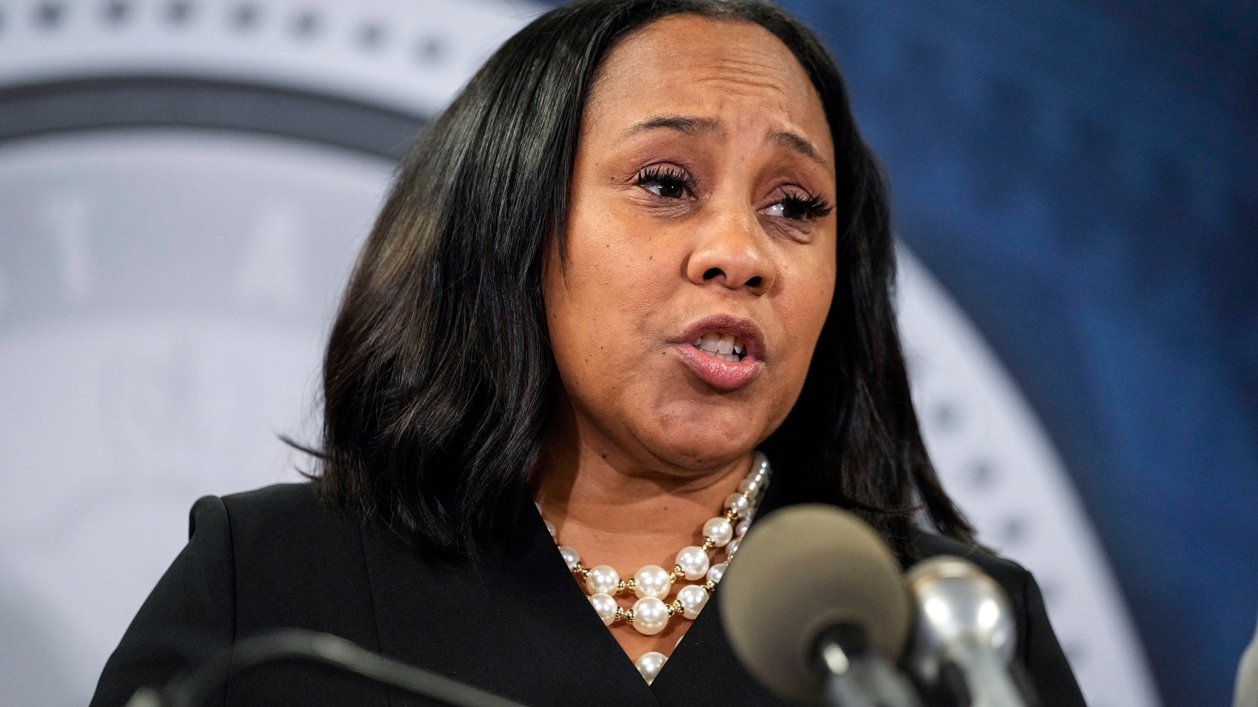
<path id="1" fill-rule="evenodd" d="M 972 562 L 938 556 L 907 575 L 917 603 L 908 664 L 918 681 L 970 707 L 1025 707 L 1009 676 L 1016 626 L 1009 600 Z"/>

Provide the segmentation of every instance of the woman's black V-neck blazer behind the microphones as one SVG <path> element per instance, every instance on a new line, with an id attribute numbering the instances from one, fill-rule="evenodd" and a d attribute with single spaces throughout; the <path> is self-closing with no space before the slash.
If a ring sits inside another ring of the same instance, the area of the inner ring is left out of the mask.
<path id="1" fill-rule="evenodd" d="M 328 511 L 311 484 L 201 498 L 189 535 L 106 664 L 92 707 L 121 707 L 137 687 L 161 686 L 214 649 L 278 626 L 330 632 L 536 707 L 786 706 L 733 657 L 713 604 L 720 590 L 648 687 L 535 512 L 521 513 L 516 541 L 479 567 L 428 556 L 386 528 Z M 1018 616 L 1018 660 L 1040 704 L 1083 704 L 1027 570 L 933 535 L 921 533 L 915 546 L 923 556 L 967 556 L 999 581 Z M 299 663 L 240 673 L 209 703 L 434 704 Z"/>

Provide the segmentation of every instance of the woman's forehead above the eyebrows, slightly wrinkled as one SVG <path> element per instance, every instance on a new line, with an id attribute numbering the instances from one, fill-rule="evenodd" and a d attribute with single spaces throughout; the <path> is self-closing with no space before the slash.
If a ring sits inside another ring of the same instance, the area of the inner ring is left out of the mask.
<path id="1" fill-rule="evenodd" d="M 752 23 L 671 15 L 619 43 L 595 77 L 586 127 L 632 126 L 658 116 L 798 132 L 833 164 L 829 125 L 813 82 L 780 39 Z"/>

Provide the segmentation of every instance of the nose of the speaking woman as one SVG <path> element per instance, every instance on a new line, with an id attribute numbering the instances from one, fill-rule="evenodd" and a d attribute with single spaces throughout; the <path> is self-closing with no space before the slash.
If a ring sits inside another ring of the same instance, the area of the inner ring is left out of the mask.
<path id="1" fill-rule="evenodd" d="M 727 214 L 702 229 L 702 238 L 686 263 L 694 284 L 718 284 L 731 291 L 764 294 L 774 284 L 776 265 L 765 250 L 765 234 L 755 214 Z"/>

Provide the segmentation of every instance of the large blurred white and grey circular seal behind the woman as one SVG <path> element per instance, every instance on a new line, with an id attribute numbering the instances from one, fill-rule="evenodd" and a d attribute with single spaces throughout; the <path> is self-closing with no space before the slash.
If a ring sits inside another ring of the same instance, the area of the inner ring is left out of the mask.
<path id="1" fill-rule="evenodd" d="M 87 702 L 191 502 L 299 481 L 328 318 L 398 159 L 537 9 L 0 8 L 0 662 Z M 1156 703 L 1050 439 L 901 253 L 915 404 L 980 538 L 1032 569 L 1089 702 Z"/>

